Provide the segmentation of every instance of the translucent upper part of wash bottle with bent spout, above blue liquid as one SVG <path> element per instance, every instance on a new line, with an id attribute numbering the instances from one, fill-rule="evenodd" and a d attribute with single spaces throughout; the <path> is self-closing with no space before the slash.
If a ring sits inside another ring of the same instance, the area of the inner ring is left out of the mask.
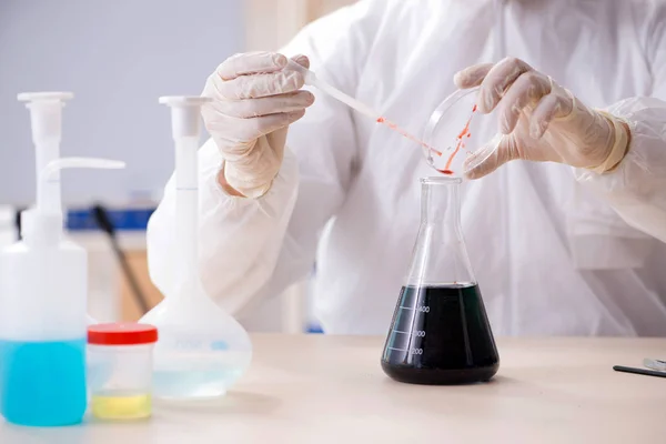
<path id="1" fill-rule="evenodd" d="M 64 236 L 62 211 L 54 202 L 60 195 L 52 199 L 56 194 L 48 191 L 68 168 L 120 169 L 124 163 L 63 158 L 42 170 L 37 206 L 21 215 L 22 241 L 0 252 L 0 337 L 85 335 L 87 253 Z"/>

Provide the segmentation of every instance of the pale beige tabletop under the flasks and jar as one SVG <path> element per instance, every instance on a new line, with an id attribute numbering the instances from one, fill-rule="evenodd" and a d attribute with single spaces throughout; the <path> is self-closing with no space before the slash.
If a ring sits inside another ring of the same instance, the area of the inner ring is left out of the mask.
<path id="1" fill-rule="evenodd" d="M 150 421 L 24 428 L 0 443 L 664 443 L 666 379 L 618 373 L 666 357 L 666 339 L 504 339 L 486 384 L 401 384 L 382 337 L 253 335 L 224 397 L 158 403 Z"/>

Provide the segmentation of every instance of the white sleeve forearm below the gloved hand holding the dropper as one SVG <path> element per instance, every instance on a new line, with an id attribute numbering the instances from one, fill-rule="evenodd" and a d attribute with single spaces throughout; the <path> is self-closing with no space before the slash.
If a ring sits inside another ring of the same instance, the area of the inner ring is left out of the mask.
<path id="1" fill-rule="evenodd" d="M 228 195 L 218 183 L 222 157 L 212 139 L 199 150 L 199 266 L 204 289 L 230 311 L 238 310 L 268 279 L 284 236 L 297 189 L 297 167 L 286 152 L 271 190 L 261 199 Z M 175 179 L 148 224 L 150 275 L 167 297 L 179 273 L 175 246 Z M 246 279 L 243 279 L 246 278 Z"/>

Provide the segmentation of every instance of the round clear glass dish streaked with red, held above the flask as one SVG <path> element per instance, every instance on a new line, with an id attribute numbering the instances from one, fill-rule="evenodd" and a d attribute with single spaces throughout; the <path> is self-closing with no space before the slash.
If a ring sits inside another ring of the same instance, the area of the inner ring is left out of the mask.
<path id="1" fill-rule="evenodd" d="M 477 93 L 478 88 L 455 91 L 435 109 L 425 127 L 423 154 L 444 175 L 463 178 L 465 171 L 485 161 L 502 139 L 496 133 L 495 112 L 477 111 Z"/>

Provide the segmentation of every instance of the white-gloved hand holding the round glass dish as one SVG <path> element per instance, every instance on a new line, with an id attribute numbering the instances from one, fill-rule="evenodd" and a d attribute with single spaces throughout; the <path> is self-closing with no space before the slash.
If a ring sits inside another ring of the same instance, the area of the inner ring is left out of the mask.
<path id="1" fill-rule="evenodd" d="M 516 159 L 604 173 L 617 167 L 628 151 L 630 132 L 624 121 L 587 108 L 522 60 L 476 64 L 456 73 L 454 82 L 462 89 L 481 85 L 478 110 L 490 113 L 497 108 L 500 131 L 505 134 L 494 152 L 493 143 L 467 158 L 465 174 L 470 179 Z"/>

